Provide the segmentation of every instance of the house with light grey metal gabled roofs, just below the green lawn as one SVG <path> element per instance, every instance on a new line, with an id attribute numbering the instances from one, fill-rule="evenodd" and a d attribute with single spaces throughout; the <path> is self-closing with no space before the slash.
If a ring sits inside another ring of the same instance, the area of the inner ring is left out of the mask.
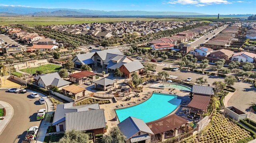
<path id="1" fill-rule="evenodd" d="M 68 86 L 71 83 L 66 80 L 63 80 L 58 74 L 58 72 L 45 74 L 45 75 L 41 74 L 38 76 L 39 78 L 37 78 L 37 76 L 34 78 L 34 79 L 38 79 L 36 80 L 36 83 L 38 84 L 38 86 L 45 88 L 47 90 L 51 89 L 52 86 L 57 86 L 59 89 L 61 89 Z"/>

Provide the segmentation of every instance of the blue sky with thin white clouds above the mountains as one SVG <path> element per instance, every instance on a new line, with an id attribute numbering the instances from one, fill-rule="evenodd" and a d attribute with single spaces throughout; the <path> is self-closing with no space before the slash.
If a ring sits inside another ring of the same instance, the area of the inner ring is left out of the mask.
<path id="1" fill-rule="evenodd" d="M 256 14 L 256 0 L 0 0 L 0 6 L 104 11 L 198 12 L 214 15 Z"/>

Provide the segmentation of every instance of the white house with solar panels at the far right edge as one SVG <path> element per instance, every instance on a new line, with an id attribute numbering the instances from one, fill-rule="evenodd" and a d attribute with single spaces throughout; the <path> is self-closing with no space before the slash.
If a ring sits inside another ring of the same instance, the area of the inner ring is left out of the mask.
<path id="1" fill-rule="evenodd" d="M 250 62 L 250 63 L 254 63 L 255 59 L 256 59 L 256 54 L 249 53 L 246 51 L 235 53 L 231 58 L 232 61 Z"/>

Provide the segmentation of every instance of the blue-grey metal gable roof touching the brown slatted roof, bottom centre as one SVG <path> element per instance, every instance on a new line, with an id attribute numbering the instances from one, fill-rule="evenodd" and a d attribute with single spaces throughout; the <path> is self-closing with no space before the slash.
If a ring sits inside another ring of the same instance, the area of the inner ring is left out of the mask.
<path id="1" fill-rule="evenodd" d="M 142 119 L 128 117 L 117 125 L 120 131 L 126 136 L 126 140 L 133 137 L 139 131 L 154 134 Z"/>

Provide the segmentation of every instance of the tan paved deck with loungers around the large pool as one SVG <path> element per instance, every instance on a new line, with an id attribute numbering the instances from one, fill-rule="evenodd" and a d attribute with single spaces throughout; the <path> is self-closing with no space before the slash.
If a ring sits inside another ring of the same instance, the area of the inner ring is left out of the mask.
<path id="1" fill-rule="evenodd" d="M 107 132 L 109 131 L 109 128 L 114 127 L 119 123 L 119 121 L 116 120 L 117 115 L 116 115 L 115 109 L 127 108 L 127 107 L 138 105 L 142 102 L 145 102 L 146 100 L 148 100 L 152 96 L 153 91 L 155 91 L 155 92 L 160 91 L 163 94 L 169 94 L 170 93 L 170 90 L 168 90 L 168 88 L 161 89 L 161 90 L 156 90 L 154 88 L 149 88 L 149 86 L 150 85 L 144 85 L 143 92 L 138 93 L 140 95 L 140 97 L 135 97 L 134 96 L 135 92 L 134 92 L 134 94 L 131 94 L 132 96 L 129 96 L 129 97 L 131 97 L 131 100 L 126 101 L 126 97 L 122 97 L 122 98 L 117 98 L 118 102 L 116 102 L 116 103 L 100 104 L 100 108 L 104 109 L 104 114 L 105 114 L 106 122 L 107 122 L 107 125 L 108 125 Z M 129 102 L 137 101 L 138 99 L 143 98 L 144 96 L 146 96 L 147 92 L 150 92 L 150 94 L 148 95 L 148 98 L 146 98 L 146 100 L 141 100 L 141 101 L 137 102 L 136 104 L 127 105 Z M 178 95 L 178 99 L 182 99 L 182 101 L 184 100 L 183 99 L 184 96 L 188 96 L 188 92 L 182 92 L 180 90 L 174 90 L 173 92 L 176 92 L 176 95 Z M 125 104 L 125 106 L 124 107 L 120 106 L 120 107 L 116 108 L 116 106 L 120 105 L 120 104 Z M 179 111 L 179 110 L 180 110 L 180 106 L 178 106 L 178 108 L 176 108 L 176 110 L 174 110 L 174 112 L 170 113 L 169 115 L 176 114 L 176 112 Z M 169 115 L 167 115 L 167 116 L 169 116 Z"/>

